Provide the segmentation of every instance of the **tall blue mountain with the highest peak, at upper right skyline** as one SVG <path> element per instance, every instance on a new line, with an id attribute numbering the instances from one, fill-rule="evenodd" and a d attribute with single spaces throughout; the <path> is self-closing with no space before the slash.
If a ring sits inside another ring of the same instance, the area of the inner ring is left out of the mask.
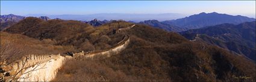
<path id="1" fill-rule="evenodd" d="M 243 22 L 255 21 L 253 18 L 245 16 L 231 16 L 228 14 L 219 13 L 200 13 L 189 17 L 176 20 L 166 20 L 164 23 L 169 23 L 170 25 L 180 26 L 181 28 L 203 28 L 205 26 L 219 25 L 222 23 L 239 24 Z"/>

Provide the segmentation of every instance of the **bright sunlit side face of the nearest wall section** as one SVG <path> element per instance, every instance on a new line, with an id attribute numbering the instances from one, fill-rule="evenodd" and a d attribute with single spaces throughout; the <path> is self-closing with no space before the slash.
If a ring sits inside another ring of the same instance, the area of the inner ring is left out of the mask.
<path id="1" fill-rule="evenodd" d="M 25 71 L 28 73 L 20 75 L 17 81 L 51 81 L 56 77 L 58 69 L 66 62 L 66 59 L 66 57 L 59 56 L 57 59 L 31 66 Z"/>

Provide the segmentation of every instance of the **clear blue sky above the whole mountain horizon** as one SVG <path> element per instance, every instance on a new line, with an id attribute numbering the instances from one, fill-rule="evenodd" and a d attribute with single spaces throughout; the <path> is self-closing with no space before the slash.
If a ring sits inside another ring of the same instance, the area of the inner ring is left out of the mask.
<path id="1" fill-rule="evenodd" d="M 255 17 L 255 1 L 1 1 L 2 14 L 226 13 Z"/>

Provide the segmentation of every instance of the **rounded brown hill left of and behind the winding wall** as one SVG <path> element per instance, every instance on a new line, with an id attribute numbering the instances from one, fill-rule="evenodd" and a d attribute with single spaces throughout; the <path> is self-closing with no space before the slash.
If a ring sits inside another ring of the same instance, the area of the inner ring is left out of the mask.
<path id="1" fill-rule="evenodd" d="M 123 34 L 112 34 L 112 29 L 126 28 L 131 23 L 117 21 L 106 25 L 93 26 L 75 20 L 43 21 L 28 17 L 6 29 L 12 34 L 27 35 L 54 45 L 66 45 L 77 51 L 102 50 L 110 48 L 122 39 Z"/>

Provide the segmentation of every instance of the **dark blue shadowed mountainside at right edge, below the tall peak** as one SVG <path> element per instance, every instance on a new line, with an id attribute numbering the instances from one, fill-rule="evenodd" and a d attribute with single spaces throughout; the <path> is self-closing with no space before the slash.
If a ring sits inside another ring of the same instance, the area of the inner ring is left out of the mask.
<path id="1" fill-rule="evenodd" d="M 225 23 L 206 28 L 190 29 L 180 33 L 190 40 L 203 40 L 210 44 L 219 45 L 236 53 L 244 54 L 255 61 L 255 27 L 255 21 L 239 25 Z"/>

